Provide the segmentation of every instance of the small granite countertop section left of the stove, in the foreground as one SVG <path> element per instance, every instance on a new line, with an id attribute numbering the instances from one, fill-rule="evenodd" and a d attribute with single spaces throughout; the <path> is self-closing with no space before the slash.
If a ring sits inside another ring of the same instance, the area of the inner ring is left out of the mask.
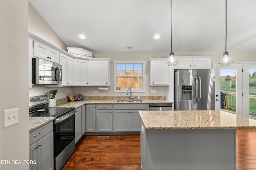
<path id="1" fill-rule="evenodd" d="M 29 132 L 50 123 L 55 117 L 29 117 Z"/>

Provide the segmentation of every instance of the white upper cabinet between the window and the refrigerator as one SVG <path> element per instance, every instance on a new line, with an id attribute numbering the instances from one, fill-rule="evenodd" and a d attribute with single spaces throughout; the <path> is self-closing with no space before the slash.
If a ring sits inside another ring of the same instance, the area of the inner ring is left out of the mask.
<path id="1" fill-rule="evenodd" d="M 167 58 L 150 58 L 150 86 L 169 86 Z"/>

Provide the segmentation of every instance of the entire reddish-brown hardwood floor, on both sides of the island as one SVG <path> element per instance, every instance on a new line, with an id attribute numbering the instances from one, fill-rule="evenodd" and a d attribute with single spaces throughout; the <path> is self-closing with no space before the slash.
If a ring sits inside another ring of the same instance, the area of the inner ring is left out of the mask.
<path id="1" fill-rule="evenodd" d="M 62 170 L 141 170 L 140 135 L 83 136 Z M 237 170 L 256 170 L 256 130 L 238 129 Z"/>

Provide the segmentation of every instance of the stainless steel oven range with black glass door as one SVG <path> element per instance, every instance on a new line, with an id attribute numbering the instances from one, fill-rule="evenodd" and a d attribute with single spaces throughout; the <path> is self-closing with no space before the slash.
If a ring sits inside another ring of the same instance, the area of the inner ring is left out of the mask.
<path id="1" fill-rule="evenodd" d="M 29 98 L 30 117 L 54 116 L 54 170 L 60 170 L 76 148 L 74 107 L 48 107 L 47 95 Z"/>

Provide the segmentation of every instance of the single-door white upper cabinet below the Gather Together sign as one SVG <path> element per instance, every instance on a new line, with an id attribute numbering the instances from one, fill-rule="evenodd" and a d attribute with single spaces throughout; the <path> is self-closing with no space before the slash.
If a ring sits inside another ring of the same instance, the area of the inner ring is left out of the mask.
<path id="1" fill-rule="evenodd" d="M 74 59 L 74 85 L 88 86 L 88 61 Z"/>

